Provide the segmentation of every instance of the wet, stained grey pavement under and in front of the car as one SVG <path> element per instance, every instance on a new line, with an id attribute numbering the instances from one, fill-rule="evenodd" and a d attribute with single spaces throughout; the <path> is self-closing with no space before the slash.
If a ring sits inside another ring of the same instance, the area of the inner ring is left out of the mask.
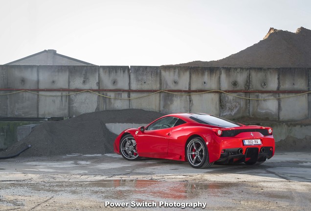
<path id="1" fill-rule="evenodd" d="M 120 155 L 0 160 L 0 210 L 310 210 L 311 153 L 262 165 L 213 165 Z M 135 209 L 133 209 L 135 208 Z"/>

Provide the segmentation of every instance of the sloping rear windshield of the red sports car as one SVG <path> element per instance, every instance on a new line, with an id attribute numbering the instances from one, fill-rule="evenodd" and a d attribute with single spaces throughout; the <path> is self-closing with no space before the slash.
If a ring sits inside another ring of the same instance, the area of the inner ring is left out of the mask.
<path id="1" fill-rule="evenodd" d="M 212 115 L 194 115 L 190 119 L 206 125 L 217 126 L 217 127 L 240 127 L 239 123 L 232 122 L 230 120 L 223 119 Z"/>

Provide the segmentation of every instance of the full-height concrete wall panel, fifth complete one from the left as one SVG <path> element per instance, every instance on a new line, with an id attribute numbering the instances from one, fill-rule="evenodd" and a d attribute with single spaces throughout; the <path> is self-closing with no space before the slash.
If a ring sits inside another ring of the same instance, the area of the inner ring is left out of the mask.
<path id="1" fill-rule="evenodd" d="M 158 66 L 131 66 L 130 76 L 133 90 L 160 89 L 160 67 Z M 130 96 L 133 99 L 130 100 L 130 108 L 160 111 L 160 94 L 152 93 L 131 92 Z"/>

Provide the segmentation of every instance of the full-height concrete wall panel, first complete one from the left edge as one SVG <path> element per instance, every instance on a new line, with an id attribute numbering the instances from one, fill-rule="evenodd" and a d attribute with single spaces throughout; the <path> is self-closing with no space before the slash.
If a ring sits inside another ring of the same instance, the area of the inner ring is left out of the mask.
<path id="1" fill-rule="evenodd" d="M 38 66 L 8 65 L 8 88 L 37 89 Z M 7 113 L 10 117 L 38 117 L 38 95 L 20 92 L 8 95 Z"/>

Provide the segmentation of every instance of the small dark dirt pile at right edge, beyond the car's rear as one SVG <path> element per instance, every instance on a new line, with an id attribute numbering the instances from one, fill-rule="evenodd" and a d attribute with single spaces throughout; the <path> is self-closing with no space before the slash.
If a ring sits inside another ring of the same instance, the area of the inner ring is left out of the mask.
<path id="1" fill-rule="evenodd" d="M 292 136 L 275 143 L 276 151 L 311 151 L 311 136 L 307 135 L 303 139 Z"/>

